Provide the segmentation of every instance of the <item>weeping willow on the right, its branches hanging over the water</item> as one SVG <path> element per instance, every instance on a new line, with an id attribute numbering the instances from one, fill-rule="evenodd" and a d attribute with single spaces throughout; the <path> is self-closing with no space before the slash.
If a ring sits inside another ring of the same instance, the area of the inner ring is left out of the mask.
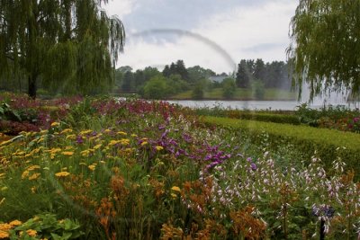
<path id="1" fill-rule="evenodd" d="M 360 94 L 360 1 L 300 0 L 291 22 L 293 84 L 311 100 L 327 91 Z"/>

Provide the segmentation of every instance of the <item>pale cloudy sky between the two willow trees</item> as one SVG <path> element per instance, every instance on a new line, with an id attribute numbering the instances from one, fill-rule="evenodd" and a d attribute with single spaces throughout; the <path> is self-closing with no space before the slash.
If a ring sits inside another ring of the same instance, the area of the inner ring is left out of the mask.
<path id="1" fill-rule="evenodd" d="M 124 24 L 117 66 L 158 67 L 183 59 L 230 73 L 241 59 L 286 60 L 295 0 L 110 0 Z"/>

